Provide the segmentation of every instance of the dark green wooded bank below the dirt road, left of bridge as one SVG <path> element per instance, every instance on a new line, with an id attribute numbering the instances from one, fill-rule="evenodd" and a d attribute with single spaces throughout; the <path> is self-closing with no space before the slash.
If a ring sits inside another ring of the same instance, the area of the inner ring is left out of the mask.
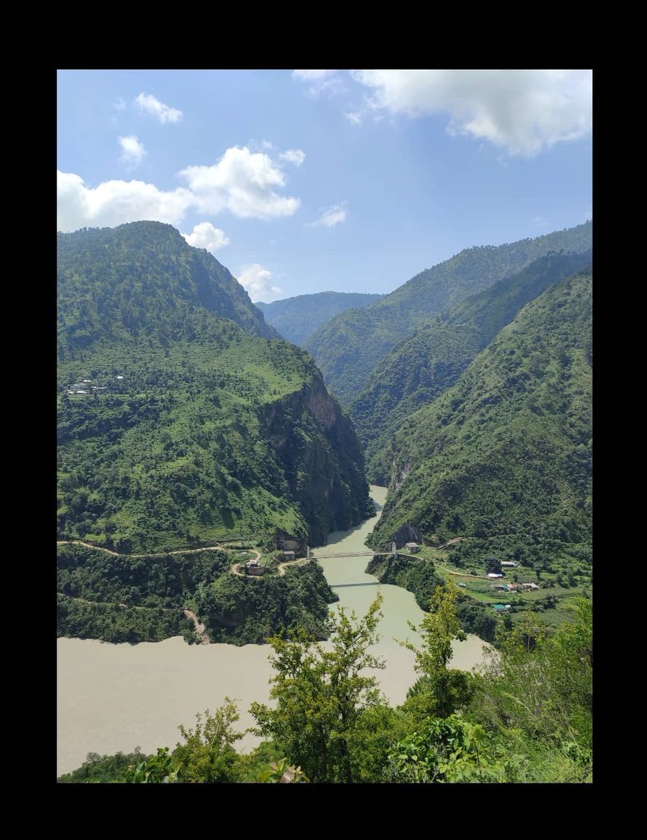
<path id="1" fill-rule="evenodd" d="M 222 550 L 124 557 L 59 545 L 57 635 L 113 643 L 182 635 L 193 643 L 190 609 L 212 642 L 260 644 L 297 625 L 327 638 L 337 596 L 318 564 L 255 578 L 232 575 L 237 560 Z"/>

